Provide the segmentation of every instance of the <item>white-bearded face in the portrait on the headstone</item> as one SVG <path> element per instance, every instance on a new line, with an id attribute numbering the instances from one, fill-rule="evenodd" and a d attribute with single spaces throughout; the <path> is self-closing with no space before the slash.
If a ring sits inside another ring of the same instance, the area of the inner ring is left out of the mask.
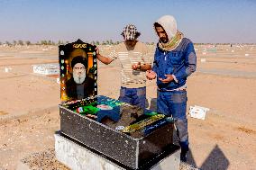
<path id="1" fill-rule="evenodd" d="M 82 63 L 77 63 L 73 67 L 73 78 L 76 84 L 84 83 L 87 77 L 87 70 L 86 67 Z"/>

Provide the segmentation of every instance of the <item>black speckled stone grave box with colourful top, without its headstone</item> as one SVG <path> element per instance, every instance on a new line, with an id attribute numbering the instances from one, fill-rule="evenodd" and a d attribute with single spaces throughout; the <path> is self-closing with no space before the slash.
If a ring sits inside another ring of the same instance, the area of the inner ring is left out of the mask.
<path id="1" fill-rule="evenodd" d="M 105 96 L 59 105 L 60 132 L 132 169 L 172 148 L 174 120 Z"/>

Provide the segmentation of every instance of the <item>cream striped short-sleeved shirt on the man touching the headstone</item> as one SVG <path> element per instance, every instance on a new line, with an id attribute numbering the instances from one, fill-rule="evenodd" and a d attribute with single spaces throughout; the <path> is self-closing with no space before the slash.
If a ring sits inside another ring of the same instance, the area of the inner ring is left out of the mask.
<path id="1" fill-rule="evenodd" d="M 133 50 L 128 50 L 124 42 L 118 44 L 109 54 L 109 58 L 119 58 L 121 63 L 122 86 L 127 88 L 139 88 L 146 86 L 146 76 L 144 71 L 133 70 L 132 65 L 141 62 L 151 65 L 148 48 L 138 41 Z"/>

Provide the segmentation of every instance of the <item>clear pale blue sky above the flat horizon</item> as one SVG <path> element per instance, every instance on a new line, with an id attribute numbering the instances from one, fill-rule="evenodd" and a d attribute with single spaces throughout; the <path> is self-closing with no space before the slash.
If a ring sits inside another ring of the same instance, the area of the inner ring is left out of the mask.
<path id="1" fill-rule="evenodd" d="M 0 41 L 122 40 L 134 23 L 140 40 L 156 42 L 164 14 L 194 42 L 256 43 L 254 0 L 0 0 Z"/>

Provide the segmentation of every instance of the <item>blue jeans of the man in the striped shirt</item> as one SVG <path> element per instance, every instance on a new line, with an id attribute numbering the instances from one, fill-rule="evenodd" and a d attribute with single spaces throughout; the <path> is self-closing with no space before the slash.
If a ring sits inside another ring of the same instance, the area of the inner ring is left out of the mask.
<path id="1" fill-rule="evenodd" d="M 146 103 L 146 87 L 126 88 L 121 86 L 118 100 L 123 103 L 131 103 L 132 105 L 144 109 Z"/>

